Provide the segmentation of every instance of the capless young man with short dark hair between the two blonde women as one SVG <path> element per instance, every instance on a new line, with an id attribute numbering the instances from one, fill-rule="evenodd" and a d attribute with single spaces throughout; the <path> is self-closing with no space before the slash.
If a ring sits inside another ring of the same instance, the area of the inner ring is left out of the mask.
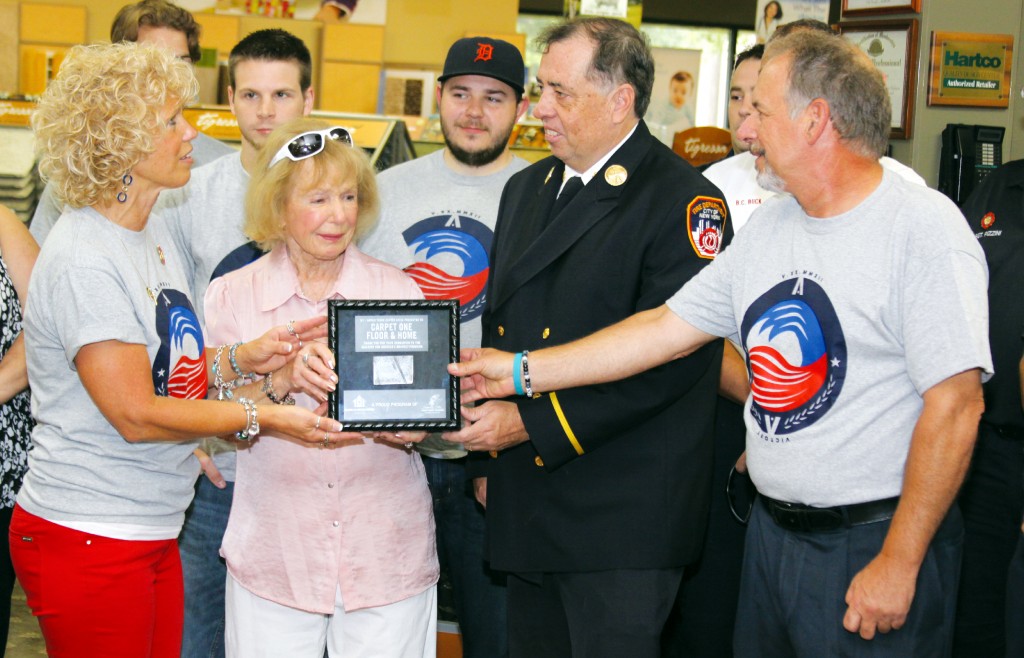
<path id="1" fill-rule="evenodd" d="M 193 299 L 210 281 L 248 265 L 261 253 L 242 232 L 249 174 L 267 136 L 313 107 L 312 62 L 302 41 L 284 30 L 261 30 L 231 49 L 227 98 L 242 132 L 242 148 L 193 174 L 188 184 L 161 195 L 156 216 L 166 221 L 191 277 Z M 203 318 L 203 305 L 197 305 Z M 204 322 L 205 323 L 205 322 Z M 224 582 L 219 555 L 234 487 L 234 447 L 210 439 L 197 451 L 206 477 L 179 537 L 185 621 L 181 655 L 224 655 Z"/>

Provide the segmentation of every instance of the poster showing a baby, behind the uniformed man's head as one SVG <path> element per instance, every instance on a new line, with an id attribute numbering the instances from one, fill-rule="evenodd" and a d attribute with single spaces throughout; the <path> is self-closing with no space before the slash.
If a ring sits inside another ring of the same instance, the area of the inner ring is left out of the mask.
<path id="1" fill-rule="evenodd" d="M 654 54 L 654 89 L 644 121 L 652 135 L 668 146 L 677 132 L 692 128 L 696 108 L 700 51 L 651 48 Z"/>

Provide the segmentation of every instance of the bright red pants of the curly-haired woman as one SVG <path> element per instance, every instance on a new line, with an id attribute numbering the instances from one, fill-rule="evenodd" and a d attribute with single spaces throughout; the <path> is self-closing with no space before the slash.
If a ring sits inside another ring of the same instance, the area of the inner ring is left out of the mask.
<path id="1" fill-rule="evenodd" d="M 10 555 L 52 658 L 178 658 L 183 594 L 175 539 L 128 541 L 14 507 Z"/>

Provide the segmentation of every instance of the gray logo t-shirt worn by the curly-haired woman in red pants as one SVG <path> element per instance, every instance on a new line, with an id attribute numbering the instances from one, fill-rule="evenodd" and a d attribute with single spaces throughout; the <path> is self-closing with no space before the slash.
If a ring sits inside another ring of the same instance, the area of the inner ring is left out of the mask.
<path id="1" fill-rule="evenodd" d="M 199 466 L 195 441 L 129 443 L 79 379 L 79 350 L 145 346 L 158 395 L 206 397 L 203 335 L 181 257 L 152 222 L 142 231 L 68 210 L 32 273 L 25 317 L 35 447 L 18 503 L 60 522 L 166 527 L 177 536 Z"/>

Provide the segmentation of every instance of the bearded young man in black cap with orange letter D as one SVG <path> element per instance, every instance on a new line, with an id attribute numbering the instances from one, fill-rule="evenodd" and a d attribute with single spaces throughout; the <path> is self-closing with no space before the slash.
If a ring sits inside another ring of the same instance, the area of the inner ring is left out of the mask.
<path id="1" fill-rule="evenodd" d="M 381 219 L 359 246 L 403 267 L 427 299 L 458 298 L 462 345 L 480 344 L 488 257 L 505 182 L 527 163 L 508 149 L 523 98 L 522 55 L 510 43 L 472 38 L 449 50 L 437 85 L 444 148 L 383 172 Z M 466 476 L 466 451 L 438 436 L 418 446 L 434 498 L 437 553 L 451 575 L 463 655 L 507 655 L 504 575 L 483 559 L 486 489 Z M 479 505 L 477 505 L 479 499 Z"/>

